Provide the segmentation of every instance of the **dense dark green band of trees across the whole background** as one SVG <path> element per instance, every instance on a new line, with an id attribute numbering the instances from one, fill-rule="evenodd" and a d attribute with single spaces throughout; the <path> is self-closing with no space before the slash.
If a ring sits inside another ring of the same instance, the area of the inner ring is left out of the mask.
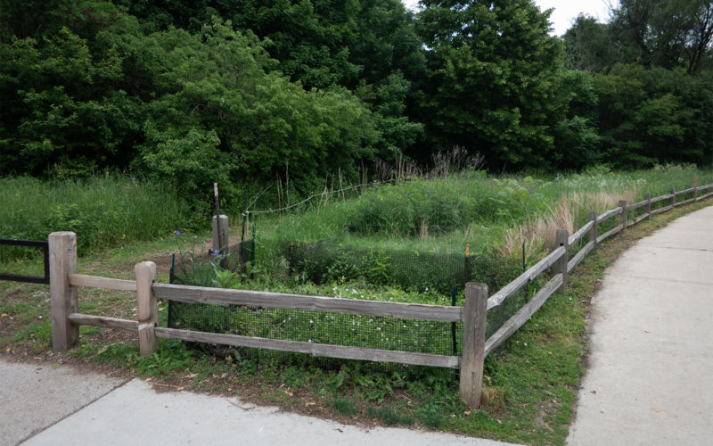
<path id="1" fill-rule="evenodd" d="M 455 147 L 491 172 L 713 161 L 713 3 L 623 0 L 562 37 L 529 0 L 420 6 L 0 0 L 0 176 L 239 207 Z"/>

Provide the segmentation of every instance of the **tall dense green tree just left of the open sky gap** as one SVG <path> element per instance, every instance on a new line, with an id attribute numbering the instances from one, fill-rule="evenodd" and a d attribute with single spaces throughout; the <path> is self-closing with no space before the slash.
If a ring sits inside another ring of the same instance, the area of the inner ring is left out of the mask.
<path id="1" fill-rule="evenodd" d="M 492 169 L 545 166 L 559 119 L 559 39 L 529 0 L 422 0 L 430 147 L 486 156 Z"/>

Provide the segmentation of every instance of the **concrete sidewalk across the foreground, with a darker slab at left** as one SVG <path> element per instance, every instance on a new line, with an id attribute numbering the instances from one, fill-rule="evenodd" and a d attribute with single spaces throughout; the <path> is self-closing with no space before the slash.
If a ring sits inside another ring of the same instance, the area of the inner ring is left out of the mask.
<path id="1" fill-rule="evenodd" d="M 0 360 L 0 446 L 115 444 L 477 445 L 506 443 L 402 428 L 365 429 L 236 398 L 155 392 L 139 379 Z"/>

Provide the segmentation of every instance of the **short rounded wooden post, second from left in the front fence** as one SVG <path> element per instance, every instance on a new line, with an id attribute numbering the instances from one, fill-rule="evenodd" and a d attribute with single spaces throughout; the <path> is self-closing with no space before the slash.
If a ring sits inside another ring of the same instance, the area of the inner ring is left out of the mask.
<path id="1" fill-rule="evenodd" d="M 135 273 L 139 317 L 139 351 L 143 356 L 150 354 L 158 346 L 154 328 L 159 324 L 159 311 L 156 309 L 156 296 L 152 289 L 153 282 L 156 280 L 156 264 L 152 261 L 137 263 Z"/>

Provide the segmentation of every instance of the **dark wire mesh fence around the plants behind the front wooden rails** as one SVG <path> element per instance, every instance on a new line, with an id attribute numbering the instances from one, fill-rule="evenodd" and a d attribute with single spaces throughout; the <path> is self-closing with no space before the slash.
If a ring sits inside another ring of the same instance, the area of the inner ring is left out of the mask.
<path id="1" fill-rule="evenodd" d="M 228 250 L 227 268 L 242 271 L 254 261 L 254 241 Z M 436 290 L 446 302 L 463 305 L 464 284 L 488 284 L 495 292 L 522 272 L 520 260 L 494 253 L 478 255 L 430 254 L 348 247 L 331 241 L 314 244 L 285 243 L 292 277 L 316 284 L 389 285 L 414 292 Z M 289 248 L 288 248 L 289 247 Z M 289 249 L 289 251 L 288 251 Z M 212 260 L 212 261 L 211 261 Z M 180 285 L 217 285 L 215 267 L 220 260 L 184 256 L 171 268 L 170 281 Z M 430 303 L 444 304 L 444 300 Z M 488 335 L 495 333 L 527 300 L 527 292 L 488 313 Z M 406 320 L 309 310 L 276 310 L 248 306 L 218 306 L 169 301 L 168 326 L 213 333 L 258 336 L 308 343 L 368 347 L 459 355 L 460 323 Z"/>

